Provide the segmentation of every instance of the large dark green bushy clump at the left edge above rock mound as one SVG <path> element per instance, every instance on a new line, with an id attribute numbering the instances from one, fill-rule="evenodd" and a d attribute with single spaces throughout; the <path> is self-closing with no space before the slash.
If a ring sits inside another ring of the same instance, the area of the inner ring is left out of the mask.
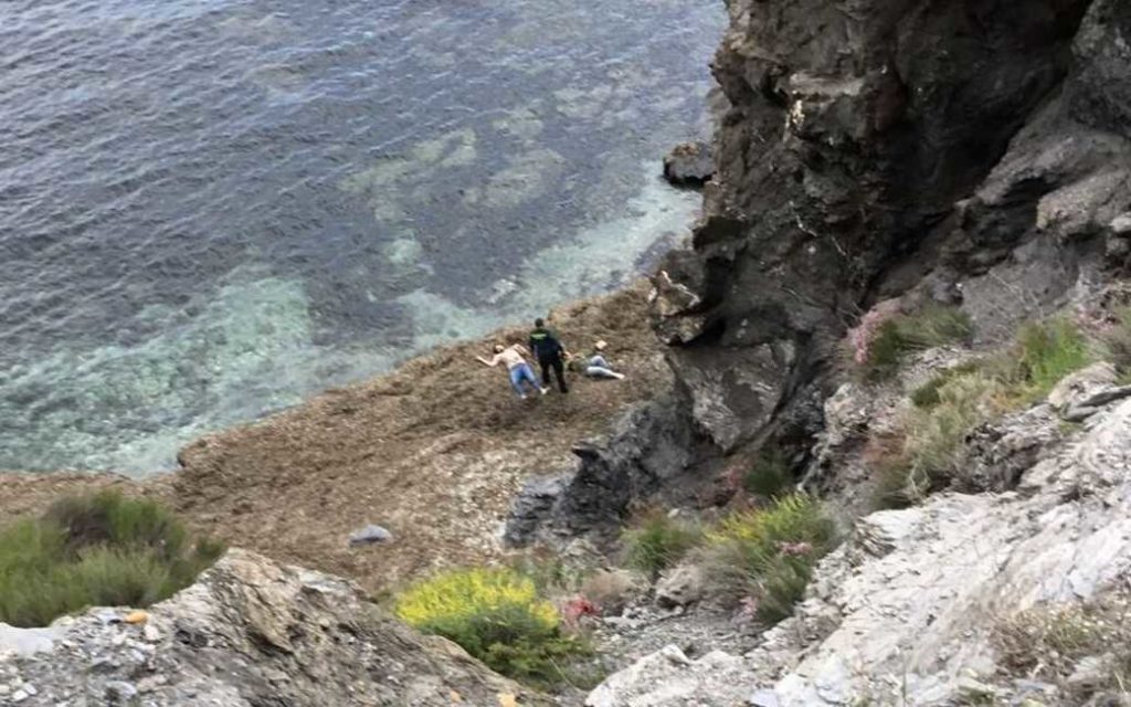
<path id="1" fill-rule="evenodd" d="M 0 621 L 45 626 L 86 606 L 148 606 L 191 584 L 223 545 L 190 543 L 154 501 L 71 497 L 0 531 Z"/>

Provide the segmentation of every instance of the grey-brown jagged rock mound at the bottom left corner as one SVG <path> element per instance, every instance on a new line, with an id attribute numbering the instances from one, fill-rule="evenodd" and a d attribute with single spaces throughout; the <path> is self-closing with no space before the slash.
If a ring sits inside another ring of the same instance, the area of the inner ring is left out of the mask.
<path id="1" fill-rule="evenodd" d="M 543 704 L 352 583 L 241 550 L 130 617 L 144 620 L 127 615 L 94 609 L 57 621 L 46 650 L 41 631 L 38 653 L 0 654 L 0 691 L 35 707 Z"/>

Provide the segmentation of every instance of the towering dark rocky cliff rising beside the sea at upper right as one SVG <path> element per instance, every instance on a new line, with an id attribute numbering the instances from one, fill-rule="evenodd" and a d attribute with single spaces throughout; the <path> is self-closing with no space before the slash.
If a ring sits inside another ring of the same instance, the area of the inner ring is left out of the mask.
<path id="1" fill-rule="evenodd" d="M 1131 3 L 728 10 L 714 182 L 654 291 L 676 407 L 706 441 L 682 477 L 767 441 L 808 465 L 839 342 L 882 300 L 959 304 L 992 343 L 1131 262 Z M 606 477 L 592 488 L 638 474 L 582 469 Z"/>

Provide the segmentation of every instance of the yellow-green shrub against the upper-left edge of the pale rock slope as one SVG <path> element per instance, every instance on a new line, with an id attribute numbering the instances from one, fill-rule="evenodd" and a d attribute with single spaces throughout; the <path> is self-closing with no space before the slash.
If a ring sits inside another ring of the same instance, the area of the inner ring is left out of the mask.
<path id="1" fill-rule="evenodd" d="M 775 623 L 793 612 L 835 542 L 836 527 L 821 502 L 795 493 L 724 518 L 706 534 L 701 555 L 717 594 L 752 598 L 757 617 Z"/>

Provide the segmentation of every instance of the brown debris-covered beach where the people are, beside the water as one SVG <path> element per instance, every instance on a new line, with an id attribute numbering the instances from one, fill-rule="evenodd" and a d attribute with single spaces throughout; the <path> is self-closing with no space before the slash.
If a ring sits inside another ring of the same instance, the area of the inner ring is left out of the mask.
<path id="1" fill-rule="evenodd" d="M 110 476 L 0 476 L 0 512 L 32 512 L 58 494 L 115 484 L 164 498 L 193 526 L 232 545 L 353 577 L 371 590 L 438 566 L 502 554 L 501 524 L 532 475 L 572 468 L 570 448 L 607 430 L 637 400 L 670 388 L 647 321 L 644 284 L 553 312 L 568 347 L 610 343 L 623 381 L 571 376 L 568 395 L 518 400 L 502 369 L 487 369 L 495 333 L 330 390 L 259 423 L 205 437 L 181 471 L 133 483 Z M 2 516 L 0 516 L 2 517 Z M 349 549 L 366 524 L 389 544 Z"/>

